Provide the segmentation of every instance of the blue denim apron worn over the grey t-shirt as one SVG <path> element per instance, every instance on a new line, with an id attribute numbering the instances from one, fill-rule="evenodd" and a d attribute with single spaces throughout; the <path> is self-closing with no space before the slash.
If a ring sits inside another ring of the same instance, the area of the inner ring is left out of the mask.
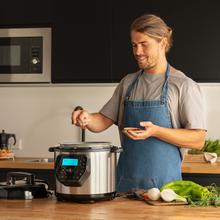
<path id="1" fill-rule="evenodd" d="M 170 66 L 167 65 L 162 94 L 158 100 L 129 100 L 130 94 L 142 73 L 132 82 L 125 97 L 124 127 L 139 127 L 141 121 L 172 128 L 168 110 L 168 79 Z M 177 146 L 149 137 L 132 140 L 123 134 L 123 152 L 117 166 L 117 191 L 130 189 L 160 188 L 164 184 L 180 180 L 181 154 Z"/>

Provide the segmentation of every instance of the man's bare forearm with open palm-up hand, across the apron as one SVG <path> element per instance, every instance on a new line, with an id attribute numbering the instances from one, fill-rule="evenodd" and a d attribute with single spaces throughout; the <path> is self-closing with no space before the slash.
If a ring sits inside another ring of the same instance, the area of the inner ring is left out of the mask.
<path id="1" fill-rule="evenodd" d="M 164 128 L 152 122 L 141 122 L 140 125 L 144 127 L 143 130 L 124 129 L 123 132 L 133 140 L 156 137 L 178 147 L 201 149 L 205 143 L 206 131 L 203 129 Z"/>

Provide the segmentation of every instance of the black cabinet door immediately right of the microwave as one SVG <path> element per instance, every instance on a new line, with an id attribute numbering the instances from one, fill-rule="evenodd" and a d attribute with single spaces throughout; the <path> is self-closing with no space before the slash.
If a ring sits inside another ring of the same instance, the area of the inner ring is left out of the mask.
<path id="1" fill-rule="evenodd" d="M 108 1 L 53 3 L 52 82 L 110 80 L 111 19 Z"/>

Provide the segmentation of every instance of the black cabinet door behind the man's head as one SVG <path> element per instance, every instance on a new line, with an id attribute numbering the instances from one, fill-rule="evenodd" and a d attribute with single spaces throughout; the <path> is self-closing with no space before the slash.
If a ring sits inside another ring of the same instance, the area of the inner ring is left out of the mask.
<path id="1" fill-rule="evenodd" d="M 220 2 L 218 0 L 113 1 L 112 79 L 138 70 L 129 26 L 145 13 L 156 14 L 173 29 L 168 62 L 198 82 L 220 82 Z"/>

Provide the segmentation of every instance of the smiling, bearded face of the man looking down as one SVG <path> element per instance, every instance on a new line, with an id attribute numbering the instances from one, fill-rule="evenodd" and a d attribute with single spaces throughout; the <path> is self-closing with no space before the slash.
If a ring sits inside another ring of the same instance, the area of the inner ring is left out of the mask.
<path id="1" fill-rule="evenodd" d="M 134 57 L 140 69 L 154 70 L 165 55 L 163 41 L 156 41 L 148 35 L 136 31 L 131 32 L 131 43 Z"/>

